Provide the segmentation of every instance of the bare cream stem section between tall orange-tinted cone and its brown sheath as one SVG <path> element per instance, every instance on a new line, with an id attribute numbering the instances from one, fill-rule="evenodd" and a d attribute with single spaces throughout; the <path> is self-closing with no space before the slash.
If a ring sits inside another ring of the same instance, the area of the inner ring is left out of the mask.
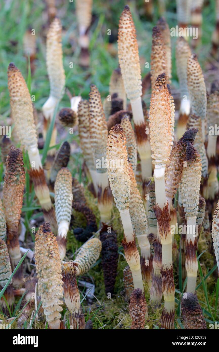
<path id="1" fill-rule="evenodd" d="M 155 197 L 157 205 L 163 210 L 163 206 L 167 203 L 165 191 L 165 167 L 154 169 L 154 185 Z"/>

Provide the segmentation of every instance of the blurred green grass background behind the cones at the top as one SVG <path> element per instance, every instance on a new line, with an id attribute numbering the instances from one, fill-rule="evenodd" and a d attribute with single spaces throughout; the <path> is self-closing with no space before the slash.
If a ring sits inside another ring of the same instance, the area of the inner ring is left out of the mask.
<path id="1" fill-rule="evenodd" d="M 145 11 L 146 3 L 138 1 L 93 1 L 92 24 L 90 28 L 90 68 L 84 70 L 79 66 L 80 49 L 77 45 L 77 20 L 75 14 L 75 0 L 57 0 L 57 17 L 63 26 L 63 55 L 66 74 L 66 87 L 71 93 L 88 97 L 89 86 L 96 84 L 102 97 L 108 94 L 108 84 L 112 70 L 118 66 L 117 58 L 117 31 L 118 21 L 123 7 L 130 6 L 137 31 L 142 77 L 150 68 L 145 68 L 145 63 L 150 63 L 152 28 L 159 19 L 159 8 L 154 1 L 153 18 L 148 19 Z M 166 1 L 164 16 L 170 27 L 177 25 L 176 2 Z M 215 1 L 205 2 L 203 8 L 202 43 L 195 50 L 202 69 L 211 49 L 211 35 L 215 27 Z M 32 94 L 36 96 L 35 107 L 41 109 L 49 95 L 49 80 L 46 72 L 46 33 L 49 26 L 46 0 L 0 0 L 0 113 L 9 116 L 9 94 L 7 89 L 7 67 L 9 62 L 14 62 L 27 80 L 28 65 L 24 55 L 23 39 L 28 29 L 36 33 L 36 70 L 31 77 Z M 108 35 L 108 30 L 111 35 Z M 175 41 L 172 37 L 173 79 L 172 89 L 178 88 L 175 69 Z M 192 40 L 192 39 L 191 39 Z M 69 68 L 73 62 L 73 68 Z M 149 98 L 146 99 L 149 103 Z M 64 95 L 60 107 L 70 106 L 69 98 Z"/>

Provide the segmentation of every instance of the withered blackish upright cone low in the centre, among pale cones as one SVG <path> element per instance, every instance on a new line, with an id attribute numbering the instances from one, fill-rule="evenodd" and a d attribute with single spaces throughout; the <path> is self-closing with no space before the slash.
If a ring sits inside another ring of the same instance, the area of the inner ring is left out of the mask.
<path id="1" fill-rule="evenodd" d="M 100 233 L 100 240 L 102 242 L 102 268 L 104 275 L 105 293 L 108 295 L 114 294 L 114 286 L 117 275 L 118 266 L 118 245 L 116 232 L 109 227 L 103 225 Z"/>

